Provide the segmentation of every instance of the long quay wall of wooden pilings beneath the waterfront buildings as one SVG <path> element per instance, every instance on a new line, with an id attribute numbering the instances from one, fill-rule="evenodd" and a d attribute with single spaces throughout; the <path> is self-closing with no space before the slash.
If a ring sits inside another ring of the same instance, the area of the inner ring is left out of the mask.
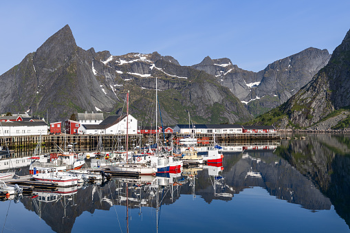
<path id="1" fill-rule="evenodd" d="M 168 145 L 171 141 L 177 143 L 179 139 L 186 137 L 187 134 L 160 134 L 158 135 L 160 142 Z M 129 135 L 129 148 L 133 149 L 138 145 L 154 144 L 157 140 L 154 134 L 135 134 Z M 201 133 L 196 134 L 198 144 L 212 144 L 215 142 L 250 144 L 255 141 L 279 140 L 279 133 Z M 0 137 L 0 146 L 8 147 L 9 150 L 31 151 L 41 142 L 41 146 L 45 151 L 54 153 L 60 148 L 65 148 L 68 144 L 74 146 L 75 151 L 94 151 L 98 148 L 120 148 L 126 144 L 126 135 L 25 135 L 13 137 Z"/>

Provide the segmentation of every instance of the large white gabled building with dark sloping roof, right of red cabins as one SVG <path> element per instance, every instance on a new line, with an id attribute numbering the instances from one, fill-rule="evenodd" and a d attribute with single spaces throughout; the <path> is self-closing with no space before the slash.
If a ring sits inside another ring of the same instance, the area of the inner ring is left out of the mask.
<path id="1" fill-rule="evenodd" d="M 128 133 L 138 133 L 138 120 L 129 114 Z M 127 133 L 127 115 L 119 117 L 110 115 L 100 124 L 83 124 L 78 129 L 79 134 L 126 134 Z"/>

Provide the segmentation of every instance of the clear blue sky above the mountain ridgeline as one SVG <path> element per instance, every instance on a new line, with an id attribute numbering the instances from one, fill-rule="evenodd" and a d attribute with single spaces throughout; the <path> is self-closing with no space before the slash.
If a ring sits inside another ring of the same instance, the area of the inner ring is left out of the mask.
<path id="1" fill-rule="evenodd" d="M 259 71 L 307 47 L 333 52 L 350 1 L 1 1 L 0 74 L 66 24 L 83 49 L 173 56 L 181 65 L 230 58 Z"/>

